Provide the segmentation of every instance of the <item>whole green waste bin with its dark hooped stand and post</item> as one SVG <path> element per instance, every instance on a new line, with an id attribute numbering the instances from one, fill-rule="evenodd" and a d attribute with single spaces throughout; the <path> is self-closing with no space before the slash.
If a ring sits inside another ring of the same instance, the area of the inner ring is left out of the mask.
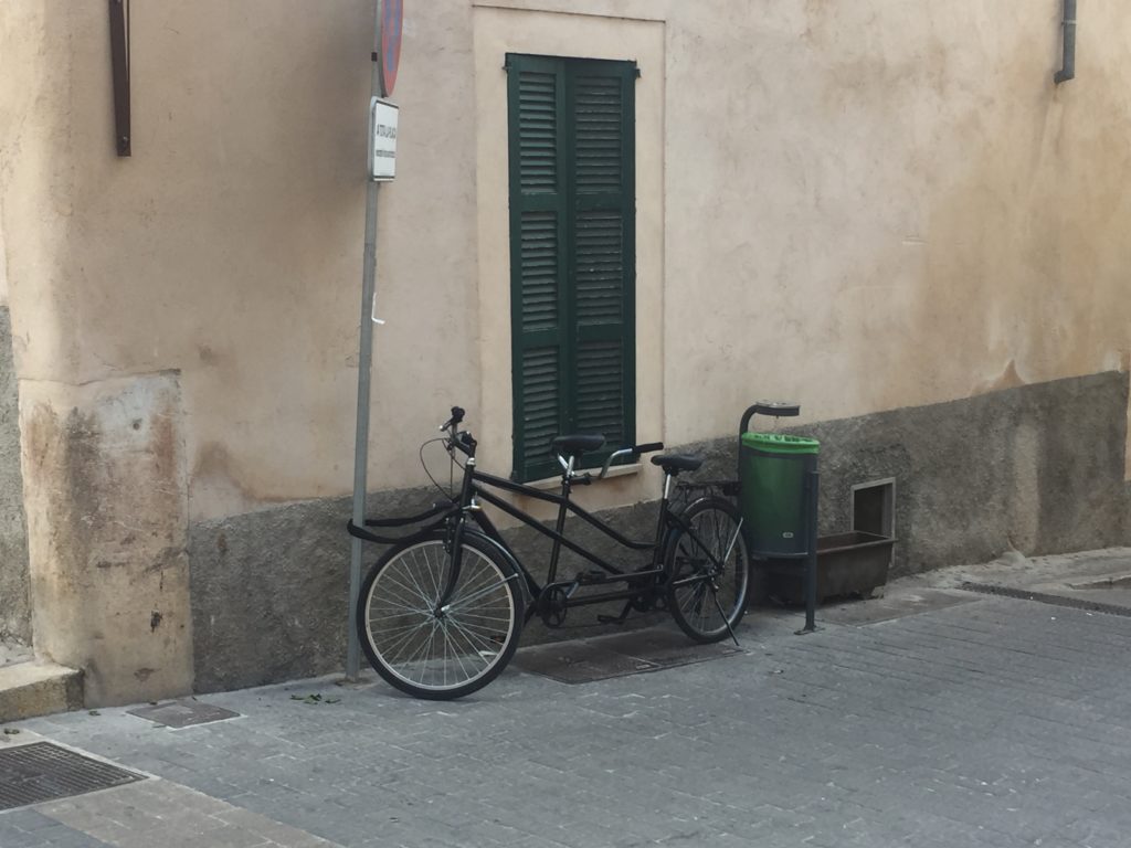
<path id="1" fill-rule="evenodd" d="M 805 628 L 817 629 L 817 468 L 820 442 L 746 430 L 754 415 L 795 417 L 796 404 L 759 401 L 739 427 L 742 523 L 750 552 L 761 559 L 805 561 Z"/>

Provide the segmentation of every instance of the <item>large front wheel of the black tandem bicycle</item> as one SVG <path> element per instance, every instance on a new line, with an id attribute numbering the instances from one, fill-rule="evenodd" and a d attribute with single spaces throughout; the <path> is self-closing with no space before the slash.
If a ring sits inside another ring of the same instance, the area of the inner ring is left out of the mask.
<path id="1" fill-rule="evenodd" d="M 459 581 L 442 607 L 451 569 L 442 533 L 392 548 L 362 582 L 356 625 L 365 656 L 389 684 L 415 698 L 470 694 L 493 681 L 518 647 L 518 573 L 474 536 L 460 547 Z"/>

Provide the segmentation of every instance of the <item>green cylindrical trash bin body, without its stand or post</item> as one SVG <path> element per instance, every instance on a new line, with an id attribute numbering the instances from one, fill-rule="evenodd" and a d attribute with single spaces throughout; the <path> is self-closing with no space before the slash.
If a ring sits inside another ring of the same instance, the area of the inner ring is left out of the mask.
<path id="1" fill-rule="evenodd" d="M 821 443 L 780 433 L 743 433 L 739 447 L 742 526 L 758 556 L 803 556 L 809 546 L 805 479 Z"/>

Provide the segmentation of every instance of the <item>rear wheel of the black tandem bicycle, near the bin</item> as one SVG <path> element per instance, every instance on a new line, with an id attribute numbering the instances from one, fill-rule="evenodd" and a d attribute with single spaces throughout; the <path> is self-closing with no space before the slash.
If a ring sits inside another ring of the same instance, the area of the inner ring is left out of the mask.
<path id="1" fill-rule="evenodd" d="M 702 497 L 681 518 L 667 548 L 667 606 L 691 639 L 717 642 L 742 621 L 750 591 L 739 510 L 724 497 Z"/>

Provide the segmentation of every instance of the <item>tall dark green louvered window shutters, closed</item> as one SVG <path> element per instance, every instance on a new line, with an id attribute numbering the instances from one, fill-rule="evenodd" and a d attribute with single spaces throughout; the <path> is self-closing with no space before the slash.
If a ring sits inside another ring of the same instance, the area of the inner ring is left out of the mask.
<path id="1" fill-rule="evenodd" d="M 515 477 L 550 441 L 636 436 L 634 62 L 507 58 Z"/>

